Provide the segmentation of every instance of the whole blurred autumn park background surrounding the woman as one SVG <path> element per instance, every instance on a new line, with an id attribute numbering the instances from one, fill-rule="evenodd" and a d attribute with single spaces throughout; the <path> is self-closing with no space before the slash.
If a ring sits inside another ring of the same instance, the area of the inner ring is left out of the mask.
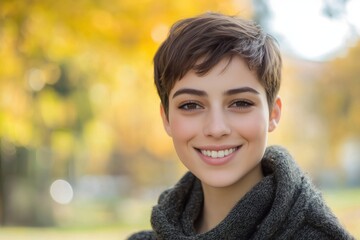
<path id="1" fill-rule="evenodd" d="M 299 5 L 300 4 L 300 5 Z M 153 55 L 174 21 L 254 19 L 284 58 L 281 144 L 360 238 L 359 0 L 0 0 L 0 239 L 125 239 L 185 169 Z"/>

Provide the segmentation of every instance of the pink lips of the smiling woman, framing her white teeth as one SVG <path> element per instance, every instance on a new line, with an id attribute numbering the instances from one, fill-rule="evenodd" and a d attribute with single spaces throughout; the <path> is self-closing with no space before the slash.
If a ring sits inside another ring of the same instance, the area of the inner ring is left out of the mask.
<path id="1" fill-rule="evenodd" d="M 201 160 L 203 160 L 203 162 L 206 163 L 207 165 L 221 166 L 221 165 L 225 165 L 228 162 L 230 162 L 233 159 L 234 155 L 239 151 L 239 149 L 241 147 L 242 147 L 242 145 L 237 145 L 237 146 L 208 146 L 208 147 L 195 148 L 195 150 L 199 154 Z M 221 150 L 226 150 L 226 149 L 235 149 L 235 150 L 232 153 L 230 153 L 229 155 L 227 155 L 227 156 L 217 157 L 217 158 L 212 158 L 210 156 L 206 156 L 201 152 L 201 150 L 221 151 Z"/>

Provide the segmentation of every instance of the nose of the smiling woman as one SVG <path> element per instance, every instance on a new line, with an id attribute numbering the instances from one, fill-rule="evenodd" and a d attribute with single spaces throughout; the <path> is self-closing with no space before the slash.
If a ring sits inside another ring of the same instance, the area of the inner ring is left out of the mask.
<path id="1" fill-rule="evenodd" d="M 204 134 L 214 138 L 220 138 L 231 133 L 227 116 L 219 110 L 212 110 L 206 115 L 204 120 Z"/>

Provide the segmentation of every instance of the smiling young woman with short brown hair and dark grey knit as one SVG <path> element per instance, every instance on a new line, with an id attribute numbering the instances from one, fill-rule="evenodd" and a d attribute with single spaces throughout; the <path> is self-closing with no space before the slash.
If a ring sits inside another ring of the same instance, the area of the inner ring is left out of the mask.
<path id="1" fill-rule="evenodd" d="M 352 239 L 282 147 L 281 57 L 251 21 L 177 22 L 154 58 L 161 116 L 189 172 L 129 239 Z"/>

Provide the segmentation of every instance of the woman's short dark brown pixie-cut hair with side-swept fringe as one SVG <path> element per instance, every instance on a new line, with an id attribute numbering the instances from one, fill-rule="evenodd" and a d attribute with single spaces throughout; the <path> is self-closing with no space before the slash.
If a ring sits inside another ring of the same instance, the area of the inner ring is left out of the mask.
<path id="1" fill-rule="evenodd" d="M 194 70 L 208 73 L 224 57 L 243 58 L 265 88 L 269 109 L 281 81 L 281 56 L 276 40 L 253 21 L 205 13 L 176 22 L 154 57 L 155 85 L 165 113 L 176 81 Z"/>

